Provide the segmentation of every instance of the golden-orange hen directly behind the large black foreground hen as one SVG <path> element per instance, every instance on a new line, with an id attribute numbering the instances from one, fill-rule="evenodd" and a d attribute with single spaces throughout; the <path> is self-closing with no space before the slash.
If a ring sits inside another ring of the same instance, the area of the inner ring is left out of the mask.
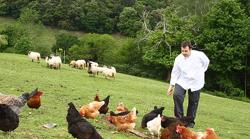
<path id="1" fill-rule="evenodd" d="M 80 114 L 86 118 L 95 119 L 100 115 L 99 109 L 105 104 L 104 101 L 93 101 L 80 108 Z"/>

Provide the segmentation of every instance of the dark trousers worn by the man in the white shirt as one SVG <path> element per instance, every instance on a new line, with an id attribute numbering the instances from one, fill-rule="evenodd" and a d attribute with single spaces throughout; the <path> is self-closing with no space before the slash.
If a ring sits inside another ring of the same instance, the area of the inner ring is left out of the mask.
<path id="1" fill-rule="evenodd" d="M 185 98 L 186 90 L 182 88 L 180 85 L 175 85 L 174 91 L 174 114 L 175 117 L 181 118 L 184 116 L 183 112 L 183 102 Z M 192 123 L 195 123 L 196 111 L 198 108 L 198 103 L 200 99 L 200 90 L 191 92 L 188 89 L 188 109 L 187 109 L 187 117 L 192 118 Z"/>

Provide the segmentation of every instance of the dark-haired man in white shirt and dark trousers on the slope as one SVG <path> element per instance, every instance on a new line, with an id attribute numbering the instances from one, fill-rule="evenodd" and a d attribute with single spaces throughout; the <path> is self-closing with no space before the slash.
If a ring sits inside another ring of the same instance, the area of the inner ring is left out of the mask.
<path id="1" fill-rule="evenodd" d="M 174 91 L 174 114 L 177 118 L 181 118 L 184 116 L 183 102 L 186 91 L 188 91 L 187 117 L 192 119 L 188 124 L 190 128 L 195 125 L 200 90 L 205 83 L 205 71 L 208 65 L 209 59 L 203 52 L 192 50 L 190 42 L 182 42 L 181 54 L 174 61 L 167 94 L 172 95 Z"/>

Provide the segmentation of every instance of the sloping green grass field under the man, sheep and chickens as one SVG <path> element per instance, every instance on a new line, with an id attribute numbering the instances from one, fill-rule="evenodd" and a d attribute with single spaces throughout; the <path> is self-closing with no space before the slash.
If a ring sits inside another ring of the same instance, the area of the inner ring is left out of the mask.
<path id="1" fill-rule="evenodd" d="M 0 92 L 20 95 L 36 87 L 44 92 L 40 109 L 31 110 L 24 106 L 19 127 L 10 134 L 0 131 L 0 139 L 72 138 L 67 132 L 65 119 L 67 103 L 73 102 L 79 108 L 93 100 L 97 89 L 102 98 L 111 95 L 111 110 L 115 110 L 120 101 L 130 109 L 135 106 L 139 111 L 136 129 L 146 132 L 140 128 L 140 122 L 154 105 L 164 106 L 164 114 L 173 115 L 173 101 L 166 95 L 167 86 L 165 82 L 124 74 L 117 74 L 115 80 L 101 75 L 89 77 L 86 70 L 72 69 L 68 65 L 53 70 L 48 69 L 44 61 L 32 63 L 25 55 L 0 53 Z M 249 139 L 249 108 L 249 103 L 202 93 L 193 130 L 203 131 L 206 127 L 213 127 L 219 139 Z M 114 128 L 101 120 L 95 123 L 89 121 L 105 139 L 137 138 L 129 133 L 114 132 Z M 45 123 L 56 123 L 58 126 L 45 129 L 42 127 Z"/>

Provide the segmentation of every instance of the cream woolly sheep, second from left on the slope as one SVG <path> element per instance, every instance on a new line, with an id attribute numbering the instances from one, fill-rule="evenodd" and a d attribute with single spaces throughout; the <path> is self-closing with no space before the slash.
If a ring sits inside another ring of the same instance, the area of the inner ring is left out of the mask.
<path id="1" fill-rule="evenodd" d="M 47 66 L 54 69 L 60 69 L 62 60 L 60 56 L 48 56 L 45 58 Z"/>

